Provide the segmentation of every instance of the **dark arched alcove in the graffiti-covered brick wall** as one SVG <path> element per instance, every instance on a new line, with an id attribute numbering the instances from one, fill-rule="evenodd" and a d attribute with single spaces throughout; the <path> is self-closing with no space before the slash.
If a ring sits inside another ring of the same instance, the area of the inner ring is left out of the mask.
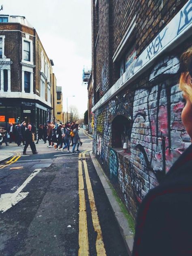
<path id="1" fill-rule="evenodd" d="M 123 143 L 128 143 L 130 120 L 124 115 L 117 115 L 111 124 L 112 148 L 123 148 Z"/>

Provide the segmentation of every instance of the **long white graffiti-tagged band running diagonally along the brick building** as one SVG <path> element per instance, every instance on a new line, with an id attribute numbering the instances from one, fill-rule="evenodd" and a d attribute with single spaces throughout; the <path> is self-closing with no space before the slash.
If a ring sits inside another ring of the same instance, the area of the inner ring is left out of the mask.
<path id="1" fill-rule="evenodd" d="M 95 111 L 104 104 L 111 95 L 115 95 L 129 78 L 141 71 L 148 65 L 154 57 L 165 50 L 173 41 L 179 43 L 182 32 L 185 31 L 183 38 L 190 35 L 187 30 L 192 25 L 192 0 L 189 0 L 173 19 L 163 28 L 153 41 L 143 50 L 138 58 L 126 69 L 126 72 L 115 82 L 115 84 L 103 95 L 103 97 L 93 106 Z"/>

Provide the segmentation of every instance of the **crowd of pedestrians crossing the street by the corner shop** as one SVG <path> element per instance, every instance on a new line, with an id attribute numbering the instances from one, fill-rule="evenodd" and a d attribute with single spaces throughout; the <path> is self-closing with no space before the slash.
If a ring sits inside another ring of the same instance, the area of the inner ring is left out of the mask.
<path id="1" fill-rule="evenodd" d="M 39 141 L 43 140 L 44 143 L 49 143 L 47 147 L 54 148 L 55 150 L 67 149 L 67 152 L 72 152 L 73 154 L 80 152 L 79 145 L 82 145 L 81 139 L 79 137 L 79 128 L 78 124 L 75 122 L 58 124 L 57 127 L 53 122 L 47 122 L 47 125 L 40 124 L 37 129 L 37 141 L 34 143 L 35 139 L 35 126 L 31 123 L 26 124 L 23 121 L 21 124 L 9 125 L 9 128 L 5 130 L 5 127 L 0 127 L 0 133 L 2 135 L 2 143 L 5 143 L 6 146 L 9 146 L 7 143 L 7 135 L 9 135 L 9 143 L 15 143 L 18 147 L 21 147 L 23 143 L 24 149 L 23 154 L 26 155 L 26 150 L 30 145 L 33 154 L 37 154 L 36 145 Z M 72 150 L 70 150 L 70 143 Z"/>

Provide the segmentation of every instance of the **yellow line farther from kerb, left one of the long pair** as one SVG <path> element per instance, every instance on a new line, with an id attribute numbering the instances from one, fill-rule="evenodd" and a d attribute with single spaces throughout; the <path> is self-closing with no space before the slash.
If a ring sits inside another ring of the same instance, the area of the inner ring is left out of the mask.
<path id="1" fill-rule="evenodd" d="M 81 156 L 79 155 L 79 159 Z M 89 256 L 82 162 L 79 160 L 79 256 Z"/>

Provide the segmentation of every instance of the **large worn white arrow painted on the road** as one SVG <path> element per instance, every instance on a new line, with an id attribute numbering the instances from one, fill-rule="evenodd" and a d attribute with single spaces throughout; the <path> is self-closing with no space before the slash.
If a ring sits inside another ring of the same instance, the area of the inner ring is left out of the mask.
<path id="1" fill-rule="evenodd" d="M 17 204 L 19 201 L 26 198 L 29 192 L 21 192 L 24 187 L 34 178 L 41 169 L 35 169 L 32 174 L 23 182 L 23 184 L 15 191 L 14 193 L 6 193 L 2 194 L 0 197 L 0 211 L 2 213 L 6 212 L 6 210 L 9 210 L 12 206 Z"/>

